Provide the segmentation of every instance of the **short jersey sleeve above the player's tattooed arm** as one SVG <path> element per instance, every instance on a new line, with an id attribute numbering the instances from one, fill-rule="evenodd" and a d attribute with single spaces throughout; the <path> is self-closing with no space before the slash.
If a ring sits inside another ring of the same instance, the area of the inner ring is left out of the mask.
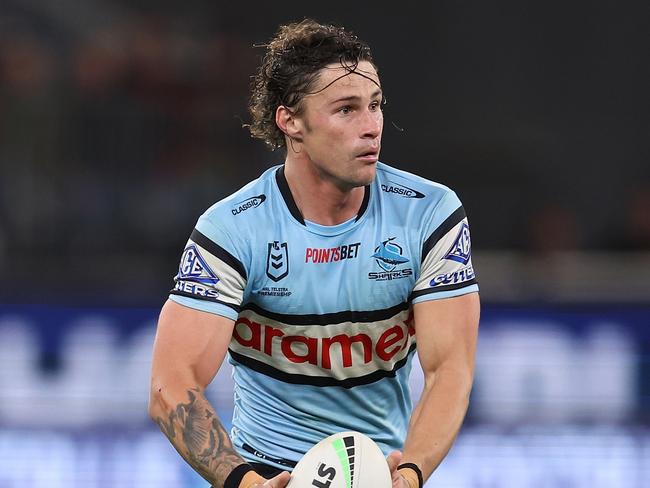
<path id="1" fill-rule="evenodd" d="M 192 231 L 169 298 L 235 320 L 247 273 L 227 232 L 202 216 Z"/>

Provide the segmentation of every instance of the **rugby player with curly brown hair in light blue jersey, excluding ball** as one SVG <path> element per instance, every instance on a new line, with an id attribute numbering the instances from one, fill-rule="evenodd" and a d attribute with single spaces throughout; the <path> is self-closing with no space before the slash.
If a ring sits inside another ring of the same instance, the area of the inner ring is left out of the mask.
<path id="1" fill-rule="evenodd" d="M 283 487 L 312 445 L 355 430 L 394 488 L 421 488 L 460 429 L 479 321 L 469 226 L 449 188 L 379 162 L 382 102 L 369 47 L 343 28 L 307 19 L 266 46 L 249 129 L 284 164 L 198 219 L 154 347 L 150 414 L 214 486 Z M 230 434 L 204 395 L 226 355 Z"/>

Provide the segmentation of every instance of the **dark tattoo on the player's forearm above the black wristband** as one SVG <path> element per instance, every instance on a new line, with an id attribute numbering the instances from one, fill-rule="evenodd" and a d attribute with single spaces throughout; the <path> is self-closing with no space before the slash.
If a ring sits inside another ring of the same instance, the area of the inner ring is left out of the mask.
<path id="1" fill-rule="evenodd" d="M 179 403 L 167 419 L 157 417 L 156 423 L 197 473 L 212 485 L 223 486 L 230 472 L 244 460 L 233 449 L 203 392 L 193 388 L 187 393 L 188 403 Z"/>

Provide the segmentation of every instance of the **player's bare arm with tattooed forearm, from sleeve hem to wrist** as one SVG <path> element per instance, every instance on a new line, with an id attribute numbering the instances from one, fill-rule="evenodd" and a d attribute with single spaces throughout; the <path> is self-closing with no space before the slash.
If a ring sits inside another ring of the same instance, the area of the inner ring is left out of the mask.
<path id="1" fill-rule="evenodd" d="M 167 301 L 158 321 L 149 414 L 180 455 L 223 486 L 245 461 L 204 395 L 225 357 L 234 322 Z"/>

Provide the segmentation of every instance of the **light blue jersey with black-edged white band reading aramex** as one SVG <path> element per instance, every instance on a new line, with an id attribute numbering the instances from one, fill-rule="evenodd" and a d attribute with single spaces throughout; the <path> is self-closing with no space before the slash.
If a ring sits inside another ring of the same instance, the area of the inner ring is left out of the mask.
<path id="1" fill-rule="evenodd" d="M 336 226 L 305 222 L 269 169 L 199 218 L 175 281 L 172 300 L 235 321 L 233 442 L 279 468 L 344 430 L 401 449 L 412 305 L 478 290 L 456 194 L 382 163 Z"/>

